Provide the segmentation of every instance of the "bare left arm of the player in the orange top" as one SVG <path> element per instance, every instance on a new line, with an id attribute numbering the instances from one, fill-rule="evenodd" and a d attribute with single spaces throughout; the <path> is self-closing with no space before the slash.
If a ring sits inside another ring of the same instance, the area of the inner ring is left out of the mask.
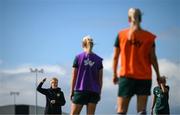
<path id="1" fill-rule="evenodd" d="M 119 61 L 119 54 L 120 49 L 118 47 L 114 48 L 114 55 L 113 55 L 113 83 L 116 84 L 118 81 L 117 77 L 117 68 L 118 68 L 118 61 Z"/>

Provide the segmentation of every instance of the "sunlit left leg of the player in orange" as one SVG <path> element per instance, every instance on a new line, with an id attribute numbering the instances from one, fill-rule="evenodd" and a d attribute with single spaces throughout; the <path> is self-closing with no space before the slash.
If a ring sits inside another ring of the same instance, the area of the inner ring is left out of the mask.
<path id="1" fill-rule="evenodd" d="M 131 98 L 130 97 L 118 97 L 117 98 L 117 113 L 126 114 Z"/>

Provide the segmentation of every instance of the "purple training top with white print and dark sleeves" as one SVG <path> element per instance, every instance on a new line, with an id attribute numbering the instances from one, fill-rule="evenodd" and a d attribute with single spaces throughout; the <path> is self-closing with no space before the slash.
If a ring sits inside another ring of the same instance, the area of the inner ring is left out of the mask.
<path id="1" fill-rule="evenodd" d="M 78 69 L 75 91 L 100 93 L 99 70 L 103 68 L 102 58 L 94 53 L 83 52 L 76 56 L 73 67 Z"/>

